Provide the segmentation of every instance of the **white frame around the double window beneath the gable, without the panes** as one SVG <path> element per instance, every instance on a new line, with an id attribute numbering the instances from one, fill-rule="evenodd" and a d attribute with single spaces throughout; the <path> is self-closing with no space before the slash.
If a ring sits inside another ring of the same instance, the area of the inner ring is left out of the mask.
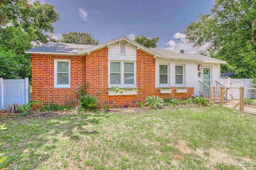
<path id="1" fill-rule="evenodd" d="M 120 79 L 121 79 L 121 83 L 120 84 L 110 84 L 110 62 L 118 62 L 118 63 L 121 63 L 120 65 L 120 70 L 121 70 L 121 74 L 120 74 Z M 124 63 L 134 63 L 133 66 L 134 66 L 134 84 L 124 84 Z M 117 87 L 135 87 L 136 86 L 136 79 L 137 79 L 137 76 L 136 76 L 136 61 L 120 61 L 120 60 L 109 60 L 108 61 L 108 87 L 111 87 L 111 86 L 117 86 Z"/>

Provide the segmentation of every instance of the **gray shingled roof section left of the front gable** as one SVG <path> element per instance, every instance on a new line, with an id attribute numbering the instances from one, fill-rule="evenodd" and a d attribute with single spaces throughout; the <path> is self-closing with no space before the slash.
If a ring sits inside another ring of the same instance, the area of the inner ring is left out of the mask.
<path id="1" fill-rule="evenodd" d="M 41 53 L 68 53 L 76 54 L 76 52 L 92 47 L 93 45 L 68 44 L 68 43 L 47 43 L 40 47 L 26 50 L 25 52 L 41 52 Z"/>

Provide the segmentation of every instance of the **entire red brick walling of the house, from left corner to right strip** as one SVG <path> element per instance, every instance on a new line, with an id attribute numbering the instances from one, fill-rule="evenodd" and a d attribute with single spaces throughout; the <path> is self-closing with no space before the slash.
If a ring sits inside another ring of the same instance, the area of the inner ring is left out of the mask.
<path id="1" fill-rule="evenodd" d="M 71 86 L 68 89 L 54 89 L 54 59 L 70 59 Z M 41 102 L 64 102 L 78 99 L 79 85 L 90 84 L 88 94 L 96 96 L 100 105 L 134 106 L 136 101 L 145 100 L 147 96 L 160 98 L 190 98 L 194 88 L 188 88 L 188 93 L 160 94 L 155 88 L 155 62 L 151 55 L 137 50 L 136 84 L 138 95 L 108 96 L 108 48 L 102 48 L 85 56 L 69 55 L 32 55 L 32 100 Z M 40 104 L 42 106 L 42 103 Z"/>

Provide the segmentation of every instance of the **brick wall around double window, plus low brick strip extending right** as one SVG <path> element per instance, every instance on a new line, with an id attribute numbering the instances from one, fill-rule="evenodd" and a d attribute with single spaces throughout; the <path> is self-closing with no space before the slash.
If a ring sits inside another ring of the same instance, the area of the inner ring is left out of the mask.
<path id="1" fill-rule="evenodd" d="M 99 49 L 86 56 L 86 83 L 90 84 L 87 92 L 104 102 L 114 102 L 115 106 L 134 106 L 135 101 L 145 100 L 147 96 L 160 96 L 161 98 L 190 98 L 194 94 L 194 88 L 188 88 L 188 93 L 160 94 L 155 88 L 155 62 L 151 55 L 137 50 L 137 87 L 138 95 L 108 96 L 108 48 Z M 112 105 L 112 104 L 108 104 Z"/>

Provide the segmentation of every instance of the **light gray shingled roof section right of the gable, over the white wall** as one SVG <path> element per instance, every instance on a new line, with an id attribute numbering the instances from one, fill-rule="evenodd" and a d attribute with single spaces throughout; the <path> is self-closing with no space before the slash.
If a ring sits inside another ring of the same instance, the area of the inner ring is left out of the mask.
<path id="1" fill-rule="evenodd" d="M 176 53 L 171 50 L 167 49 L 152 49 L 156 53 L 163 55 L 164 58 L 168 59 L 184 59 L 184 60 L 193 60 L 193 61 L 209 61 L 209 62 L 218 62 L 218 63 L 226 63 L 226 61 L 214 59 L 212 57 L 207 57 L 200 54 L 182 54 L 182 53 Z"/>

